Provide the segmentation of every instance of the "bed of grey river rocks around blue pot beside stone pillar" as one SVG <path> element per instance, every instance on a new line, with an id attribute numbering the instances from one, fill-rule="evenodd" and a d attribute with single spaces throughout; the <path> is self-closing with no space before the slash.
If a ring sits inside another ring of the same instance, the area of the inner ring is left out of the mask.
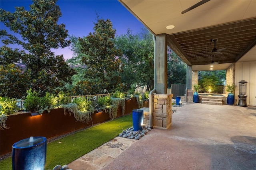
<path id="1" fill-rule="evenodd" d="M 134 131 L 133 127 L 130 127 L 122 131 L 122 133 L 119 133 L 118 137 L 139 140 L 151 130 L 152 129 L 148 126 L 143 126 L 142 131 Z"/>

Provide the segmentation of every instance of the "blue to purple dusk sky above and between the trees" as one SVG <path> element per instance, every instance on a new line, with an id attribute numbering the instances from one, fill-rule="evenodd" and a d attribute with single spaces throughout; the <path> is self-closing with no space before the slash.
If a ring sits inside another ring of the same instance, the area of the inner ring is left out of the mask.
<path id="1" fill-rule="evenodd" d="M 0 0 L 0 8 L 10 12 L 15 11 L 15 6 L 24 6 L 26 10 L 29 10 L 30 4 L 32 4 L 30 0 Z M 132 30 L 132 33 L 138 33 L 144 27 L 117 0 L 58 0 L 57 4 L 62 12 L 58 23 L 64 23 L 69 35 L 76 37 L 87 36 L 89 32 L 93 32 L 96 13 L 100 18 L 109 19 L 112 22 L 116 35 L 125 34 L 128 28 Z M 1 29 L 6 29 L 3 23 L 0 26 Z M 54 52 L 56 55 L 63 54 L 65 59 L 72 57 L 70 47 L 54 50 Z"/>

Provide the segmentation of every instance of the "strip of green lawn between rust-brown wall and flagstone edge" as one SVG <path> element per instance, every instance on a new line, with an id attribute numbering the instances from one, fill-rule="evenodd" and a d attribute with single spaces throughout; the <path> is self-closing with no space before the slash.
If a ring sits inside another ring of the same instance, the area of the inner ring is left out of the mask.
<path id="1" fill-rule="evenodd" d="M 132 115 L 101 123 L 47 144 L 46 170 L 68 164 L 82 155 L 114 139 L 126 128 L 132 127 Z M 58 143 L 61 142 L 61 143 Z M 12 158 L 0 162 L 1 170 L 12 169 Z"/>

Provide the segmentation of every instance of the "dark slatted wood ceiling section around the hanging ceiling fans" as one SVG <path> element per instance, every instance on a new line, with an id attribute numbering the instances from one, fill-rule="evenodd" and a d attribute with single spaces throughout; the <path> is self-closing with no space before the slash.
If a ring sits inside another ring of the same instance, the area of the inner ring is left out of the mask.
<path id="1" fill-rule="evenodd" d="M 212 55 L 219 64 L 235 63 L 256 45 L 256 18 L 168 36 L 177 41 L 192 65 L 210 64 Z M 217 49 L 227 48 L 222 55 L 212 53 L 211 39 L 216 39 Z"/>

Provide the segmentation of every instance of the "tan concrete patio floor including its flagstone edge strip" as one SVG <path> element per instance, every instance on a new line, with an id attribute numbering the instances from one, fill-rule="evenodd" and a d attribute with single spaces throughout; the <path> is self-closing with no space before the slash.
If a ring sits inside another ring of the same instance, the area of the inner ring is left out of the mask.
<path id="1" fill-rule="evenodd" d="M 170 129 L 114 140 L 68 164 L 73 170 L 256 170 L 256 107 L 186 103 Z"/>

